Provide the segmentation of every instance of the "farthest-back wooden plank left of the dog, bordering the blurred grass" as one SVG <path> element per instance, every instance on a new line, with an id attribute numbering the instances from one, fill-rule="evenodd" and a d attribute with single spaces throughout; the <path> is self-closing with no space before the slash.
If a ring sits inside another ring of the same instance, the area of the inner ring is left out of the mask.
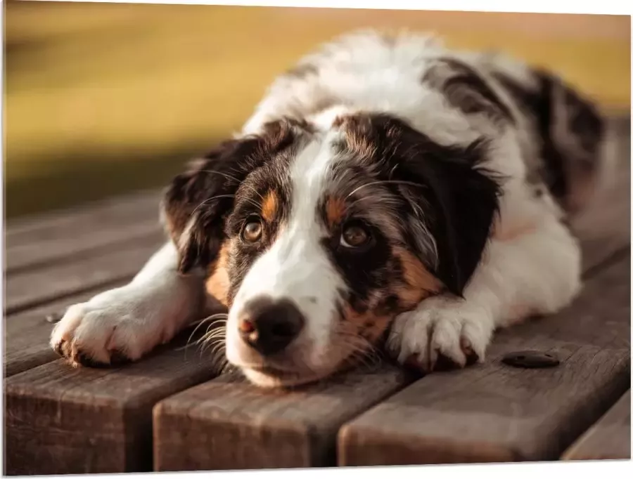
<path id="1" fill-rule="evenodd" d="M 30 218 L 6 232 L 6 273 L 37 268 L 67 256 L 98 254 L 161 230 L 157 192 L 127 195 L 44 218 Z"/>

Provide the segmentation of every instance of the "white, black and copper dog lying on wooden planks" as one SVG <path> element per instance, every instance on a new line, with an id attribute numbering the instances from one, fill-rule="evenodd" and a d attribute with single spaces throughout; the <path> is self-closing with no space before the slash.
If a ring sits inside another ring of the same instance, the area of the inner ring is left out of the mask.
<path id="1" fill-rule="evenodd" d="M 261 387 L 378 346 L 432 372 L 568 306 L 605 123 L 555 74 L 425 34 L 352 32 L 269 87 L 240 133 L 174 178 L 169 240 L 129 284 L 68 308 L 74 365 L 134 361 L 226 307 L 226 360 Z"/>

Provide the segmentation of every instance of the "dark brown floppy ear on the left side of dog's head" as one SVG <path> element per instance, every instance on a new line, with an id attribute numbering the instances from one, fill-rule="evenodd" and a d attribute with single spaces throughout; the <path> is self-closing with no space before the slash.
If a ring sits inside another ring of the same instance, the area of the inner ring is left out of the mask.
<path id="1" fill-rule="evenodd" d="M 239 185 L 291 145 L 295 133 L 289 122 L 271 122 L 258 135 L 222 143 L 172 180 L 162 198 L 162 218 L 179 251 L 180 273 L 215 261 Z"/>

